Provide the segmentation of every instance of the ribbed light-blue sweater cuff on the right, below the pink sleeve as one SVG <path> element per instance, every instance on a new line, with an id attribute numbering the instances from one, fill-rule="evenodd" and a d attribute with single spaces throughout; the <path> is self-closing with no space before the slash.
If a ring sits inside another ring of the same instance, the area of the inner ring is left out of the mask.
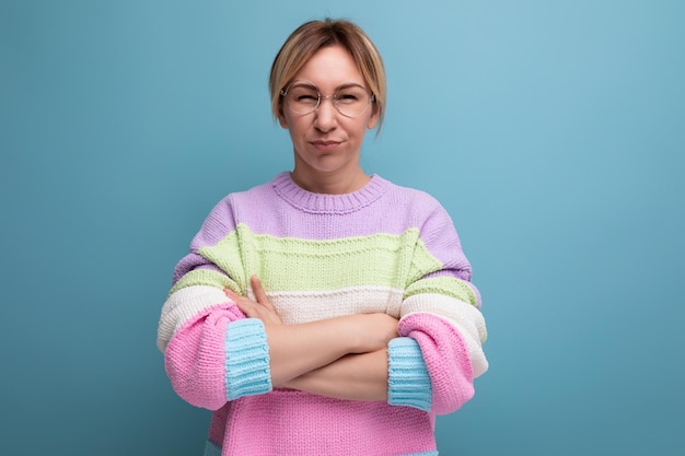
<path id="1" fill-rule="evenodd" d="M 398 337 L 387 344 L 387 404 L 429 411 L 430 376 L 418 342 Z"/>

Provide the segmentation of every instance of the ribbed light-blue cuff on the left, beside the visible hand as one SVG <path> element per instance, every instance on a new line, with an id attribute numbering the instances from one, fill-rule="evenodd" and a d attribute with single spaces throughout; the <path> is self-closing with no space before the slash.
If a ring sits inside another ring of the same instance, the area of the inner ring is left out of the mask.
<path id="1" fill-rule="evenodd" d="M 229 400 L 271 390 L 269 346 L 262 320 L 244 318 L 229 324 L 225 353 L 225 390 Z"/>

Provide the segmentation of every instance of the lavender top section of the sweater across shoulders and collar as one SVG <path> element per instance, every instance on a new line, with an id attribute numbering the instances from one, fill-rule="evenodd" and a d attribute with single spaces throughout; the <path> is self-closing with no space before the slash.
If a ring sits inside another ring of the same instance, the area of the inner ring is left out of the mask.
<path id="1" fill-rule="evenodd" d="M 275 198 L 275 194 L 280 198 Z M 303 223 L 304 214 L 306 223 Z M 423 242 L 437 241 L 431 245 L 431 254 L 445 269 L 469 282 L 480 307 L 478 289 L 471 283 L 471 265 L 448 212 L 430 195 L 396 186 L 378 175 L 372 176 L 359 191 L 323 195 L 303 190 L 292 182 L 289 173 L 281 173 L 270 183 L 231 194 L 221 200 L 193 239 L 190 250 L 198 252 L 204 246 L 216 245 L 235 230 L 239 222 L 256 234 L 307 239 L 376 233 L 398 235 L 407 227 L 419 227 Z M 177 265 L 174 283 L 197 266 L 196 260 L 194 255 L 189 255 Z M 200 259 L 199 262 L 206 261 Z"/>

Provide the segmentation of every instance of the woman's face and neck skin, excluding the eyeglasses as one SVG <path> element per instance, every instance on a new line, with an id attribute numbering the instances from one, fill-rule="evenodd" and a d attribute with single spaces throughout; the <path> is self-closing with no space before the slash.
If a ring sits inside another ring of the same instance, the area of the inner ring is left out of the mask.
<path id="1" fill-rule="evenodd" d="M 294 148 L 293 179 L 314 191 L 326 183 L 348 187 L 338 187 L 336 192 L 361 188 L 358 184 L 368 180 L 359 164 L 361 144 L 367 129 L 375 127 L 376 109 L 372 104 L 362 114 L 346 117 L 335 108 L 333 98 L 323 97 L 346 84 L 365 86 L 352 56 L 341 46 L 322 48 L 293 80 L 311 81 L 322 94 L 318 107 L 310 114 L 293 112 L 287 101 L 281 105 L 278 119 L 289 130 Z"/>

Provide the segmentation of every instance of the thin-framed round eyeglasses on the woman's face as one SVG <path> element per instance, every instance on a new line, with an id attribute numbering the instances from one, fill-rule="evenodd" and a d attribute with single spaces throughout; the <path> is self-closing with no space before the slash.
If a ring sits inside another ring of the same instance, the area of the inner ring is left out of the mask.
<path id="1" fill-rule="evenodd" d="M 313 82 L 295 80 L 280 91 L 288 107 L 301 115 L 312 114 L 322 98 L 332 98 L 333 106 L 346 117 L 356 117 L 362 114 L 375 100 L 373 94 L 355 83 L 344 84 L 336 89 L 333 95 L 322 95 Z"/>

